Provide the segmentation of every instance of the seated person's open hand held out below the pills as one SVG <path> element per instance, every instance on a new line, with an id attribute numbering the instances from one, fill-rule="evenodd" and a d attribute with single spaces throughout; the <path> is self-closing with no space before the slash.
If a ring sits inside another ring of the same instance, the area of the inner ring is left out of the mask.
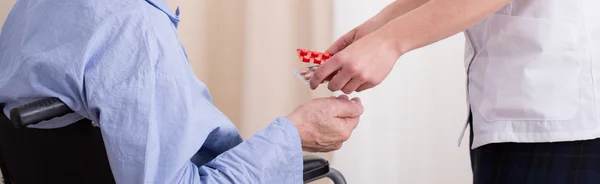
<path id="1" fill-rule="evenodd" d="M 340 149 L 350 138 L 362 113 L 360 99 L 341 95 L 311 100 L 287 118 L 298 129 L 304 151 L 329 152 Z"/>

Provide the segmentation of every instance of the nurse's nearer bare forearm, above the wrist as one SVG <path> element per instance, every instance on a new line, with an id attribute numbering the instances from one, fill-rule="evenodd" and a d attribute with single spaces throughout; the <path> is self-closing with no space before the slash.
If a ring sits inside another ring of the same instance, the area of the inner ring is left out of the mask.
<path id="1" fill-rule="evenodd" d="M 398 52 L 429 45 L 482 21 L 511 0 L 431 0 L 402 15 L 380 30 Z"/>

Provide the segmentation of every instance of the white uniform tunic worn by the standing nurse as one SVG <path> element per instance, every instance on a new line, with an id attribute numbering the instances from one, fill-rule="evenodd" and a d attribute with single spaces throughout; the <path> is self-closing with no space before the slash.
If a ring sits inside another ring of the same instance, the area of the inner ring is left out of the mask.
<path id="1" fill-rule="evenodd" d="M 465 35 L 473 148 L 600 137 L 600 0 L 514 0 Z"/>

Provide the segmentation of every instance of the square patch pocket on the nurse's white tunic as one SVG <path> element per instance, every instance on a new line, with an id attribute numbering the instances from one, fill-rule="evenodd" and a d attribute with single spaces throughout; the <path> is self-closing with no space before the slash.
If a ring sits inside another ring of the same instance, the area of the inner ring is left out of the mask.
<path id="1" fill-rule="evenodd" d="M 487 121 L 569 120 L 580 108 L 582 30 L 565 21 L 494 14 L 476 58 Z"/>

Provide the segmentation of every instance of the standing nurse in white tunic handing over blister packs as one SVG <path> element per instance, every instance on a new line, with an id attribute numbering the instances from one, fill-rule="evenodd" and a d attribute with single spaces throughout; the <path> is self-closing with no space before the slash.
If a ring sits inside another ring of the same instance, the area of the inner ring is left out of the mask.
<path id="1" fill-rule="evenodd" d="M 464 31 L 474 183 L 598 183 L 599 8 L 598 0 L 398 0 L 339 38 L 310 87 L 373 88 L 403 54 Z"/>

